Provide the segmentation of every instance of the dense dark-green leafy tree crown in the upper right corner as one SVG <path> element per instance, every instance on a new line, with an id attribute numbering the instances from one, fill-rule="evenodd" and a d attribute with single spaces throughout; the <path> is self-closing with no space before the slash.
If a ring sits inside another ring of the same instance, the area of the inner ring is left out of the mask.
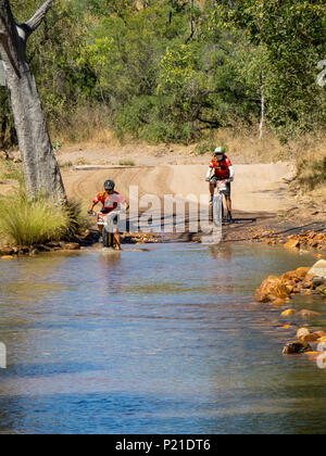
<path id="1" fill-rule="evenodd" d="M 224 4 L 223 4 L 224 3 Z M 326 55 L 323 0 L 222 1 L 216 11 L 226 25 L 246 29 L 263 51 L 267 117 L 285 140 L 323 126 L 325 89 L 316 84 L 317 63 Z"/>

